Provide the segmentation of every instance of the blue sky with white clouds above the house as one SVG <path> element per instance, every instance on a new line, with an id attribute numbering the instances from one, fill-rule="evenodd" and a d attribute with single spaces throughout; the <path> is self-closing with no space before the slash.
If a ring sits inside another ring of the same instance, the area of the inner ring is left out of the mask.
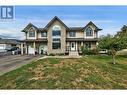
<path id="1" fill-rule="evenodd" d="M 85 27 L 92 21 L 101 29 L 99 35 L 114 35 L 127 25 L 127 6 L 15 6 L 15 19 L 0 20 L 0 35 L 24 39 L 21 32 L 28 23 L 43 28 L 54 16 L 68 27 Z"/>

